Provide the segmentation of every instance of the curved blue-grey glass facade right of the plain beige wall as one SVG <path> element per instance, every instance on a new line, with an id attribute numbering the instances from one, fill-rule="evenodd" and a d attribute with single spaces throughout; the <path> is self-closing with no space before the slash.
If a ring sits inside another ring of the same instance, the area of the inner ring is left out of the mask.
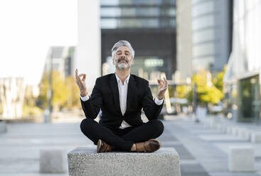
<path id="1" fill-rule="evenodd" d="M 227 0 L 191 0 L 193 71 L 220 71 L 228 62 L 231 5 Z"/>

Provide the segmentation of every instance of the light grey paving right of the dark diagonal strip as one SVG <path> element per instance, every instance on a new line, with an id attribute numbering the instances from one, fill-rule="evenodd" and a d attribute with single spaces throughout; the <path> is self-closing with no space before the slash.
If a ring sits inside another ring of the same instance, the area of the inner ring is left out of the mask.
<path id="1" fill-rule="evenodd" d="M 170 121 L 165 124 L 171 133 L 182 143 L 182 145 L 193 155 L 195 160 L 214 176 L 255 176 L 261 175 L 261 145 L 238 139 L 225 133 L 215 133 L 215 130 L 205 128 L 202 123 L 191 123 L 188 121 Z M 171 128 L 170 128 L 171 127 Z M 257 172 L 229 172 L 228 153 L 229 145 L 251 145 L 255 148 L 255 168 Z M 182 160 L 181 160 L 182 161 Z M 182 162 L 181 162 L 182 163 Z M 259 169 L 260 168 L 260 169 Z"/>

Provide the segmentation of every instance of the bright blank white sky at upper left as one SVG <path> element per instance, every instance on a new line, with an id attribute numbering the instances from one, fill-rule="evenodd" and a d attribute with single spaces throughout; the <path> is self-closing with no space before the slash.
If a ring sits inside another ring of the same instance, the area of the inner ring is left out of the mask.
<path id="1" fill-rule="evenodd" d="M 0 1 L 0 77 L 41 80 L 48 48 L 77 44 L 76 0 Z"/>

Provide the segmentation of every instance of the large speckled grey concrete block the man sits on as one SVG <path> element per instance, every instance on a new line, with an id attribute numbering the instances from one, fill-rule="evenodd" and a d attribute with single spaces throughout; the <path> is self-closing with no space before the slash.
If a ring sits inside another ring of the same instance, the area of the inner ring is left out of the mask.
<path id="1" fill-rule="evenodd" d="M 154 153 L 97 153 L 96 148 L 80 147 L 68 153 L 68 167 L 70 176 L 181 175 L 174 148 L 160 148 Z"/>

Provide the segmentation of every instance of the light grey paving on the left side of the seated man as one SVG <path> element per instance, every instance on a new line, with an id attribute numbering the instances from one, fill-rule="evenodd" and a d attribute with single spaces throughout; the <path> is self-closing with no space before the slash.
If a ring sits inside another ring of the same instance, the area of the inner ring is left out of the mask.
<path id="1" fill-rule="evenodd" d="M 46 176 L 39 173 L 41 149 L 69 152 L 79 146 L 93 146 L 81 133 L 79 123 L 8 123 L 8 127 L 9 132 L 0 135 L 0 175 Z"/>

